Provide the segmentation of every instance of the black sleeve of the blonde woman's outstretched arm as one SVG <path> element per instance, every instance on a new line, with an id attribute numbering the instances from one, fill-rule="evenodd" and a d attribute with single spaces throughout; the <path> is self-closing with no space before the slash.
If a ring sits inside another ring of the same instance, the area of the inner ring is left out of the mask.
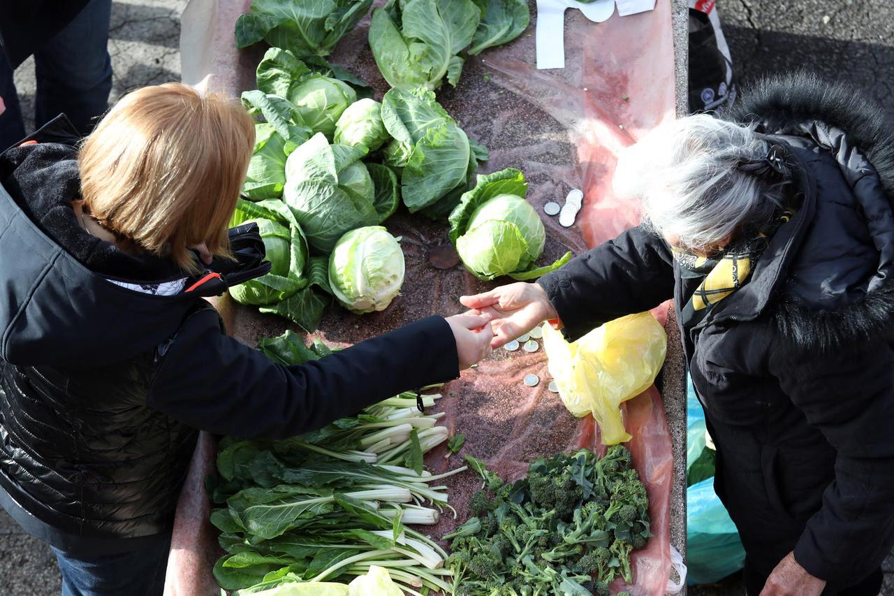
<path id="1" fill-rule="evenodd" d="M 441 317 L 283 366 L 223 335 L 217 313 L 204 310 L 187 319 L 164 354 L 148 405 L 215 434 L 288 438 L 459 374 L 453 332 Z"/>

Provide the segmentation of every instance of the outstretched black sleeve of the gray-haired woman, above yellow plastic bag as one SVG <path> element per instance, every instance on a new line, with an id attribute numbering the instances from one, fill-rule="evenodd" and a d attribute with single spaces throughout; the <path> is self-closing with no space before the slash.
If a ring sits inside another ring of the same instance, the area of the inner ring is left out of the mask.
<path id="1" fill-rule="evenodd" d="M 538 283 L 559 313 L 565 336 L 574 340 L 607 321 L 654 309 L 672 298 L 673 260 L 661 238 L 634 227 Z"/>

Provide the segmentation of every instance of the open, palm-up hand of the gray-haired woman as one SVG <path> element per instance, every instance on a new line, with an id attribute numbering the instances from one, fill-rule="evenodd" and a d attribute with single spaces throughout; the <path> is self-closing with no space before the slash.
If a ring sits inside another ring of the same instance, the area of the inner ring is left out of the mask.
<path id="1" fill-rule="evenodd" d="M 524 282 L 501 285 L 484 294 L 460 296 L 460 302 L 467 308 L 491 316 L 493 348 L 527 333 L 544 320 L 559 317 L 544 288 Z"/>

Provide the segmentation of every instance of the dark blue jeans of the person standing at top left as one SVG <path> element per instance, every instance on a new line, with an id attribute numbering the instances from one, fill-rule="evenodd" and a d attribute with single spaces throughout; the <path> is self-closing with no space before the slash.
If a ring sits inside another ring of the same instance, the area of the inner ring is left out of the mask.
<path id="1" fill-rule="evenodd" d="M 112 60 L 108 53 L 112 0 L 91 0 L 66 27 L 34 55 L 37 93 L 34 123 L 40 128 L 65 114 L 87 134 L 108 109 Z M 13 69 L 0 58 L 0 150 L 25 136 Z"/>

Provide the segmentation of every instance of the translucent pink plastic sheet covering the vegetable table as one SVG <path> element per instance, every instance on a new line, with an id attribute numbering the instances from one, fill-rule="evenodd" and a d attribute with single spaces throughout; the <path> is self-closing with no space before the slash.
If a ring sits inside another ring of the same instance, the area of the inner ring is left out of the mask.
<path id="1" fill-rule="evenodd" d="M 531 28 L 521 38 L 469 58 L 458 88 L 445 83 L 438 98 L 469 136 L 490 149 L 490 160 L 479 173 L 519 167 L 530 183 L 528 199 L 538 210 L 549 200 L 561 203 L 573 188 L 586 193 L 575 226 L 564 228 L 556 218 L 543 217 L 546 262 L 566 250 L 586 251 L 637 223 L 637 209 L 612 194 L 611 173 L 621 148 L 673 117 L 674 65 L 670 2 L 659 0 L 651 13 L 622 18 L 616 14 L 599 24 L 570 10 L 564 38 L 566 68 L 537 71 L 534 4 Z M 184 13 L 184 81 L 233 97 L 253 89 L 260 51 L 240 52 L 232 42 L 236 18 L 249 5 L 249 0 L 193 0 Z M 332 60 L 372 84 L 377 98 L 387 89 L 368 48 L 365 23 L 342 39 Z M 315 334 L 325 342 L 350 345 L 430 314 L 455 314 L 462 311 L 460 294 L 495 285 L 479 282 L 458 264 L 447 226 L 403 213 L 392 217 L 388 227 L 402 236 L 407 262 L 401 296 L 386 311 L 362 317 L 329 309 Z M 217 306 L 230 333 L 249 345 L 294 328 L 284 319 L 261 315 L 225 298 Z M 519 354 L 498 350 L 479 368 L 463 372 L 444 387 L 446 397 L 440 402 L 448 413 L 446 423 L 467 435 L 464 450 L 484 458 L 510 480 L 523 475 L 536 457 L 571 447 L 602 449 L 592 419 L 573 418 L 558 396 L 547 390 L 545 354 Z M 521 382 L 531 372 L 542 379 L 537 387 Z M 629 591 L 634 596 L 659 596 L 671 568 L 671 438 L 654 387 L 624 407 L 634 437 L 629 447 L 649 492 L 655 534 L 635 554 L 636 585 Z M 445 459 L 445 453 L 445 447 L 436 449 L 426 464 L 438 471 L 460 464 L 459 456 Z M 206 450 L 194 464 L 190 481 L 213 469 L 213 458 Z M 468 497 L 479 484 L 471 473 L 453 477 L 449 484 L 462 520 Z M 198 485 L 193 481 L 190 486 Z M 181 499 L 178 509 L 174 543 L 181 548 L 172 551 L 169 594 L 217 593 L 213 580 L 208 583 L 207 567 L 216 554 L 215 544 L 201 529 L 202 524 L 207 529 L 207 509 L 199 510 L 197 500 Z M 445 515 L 433 534 L 441 535 L 455 524 Z"/>

